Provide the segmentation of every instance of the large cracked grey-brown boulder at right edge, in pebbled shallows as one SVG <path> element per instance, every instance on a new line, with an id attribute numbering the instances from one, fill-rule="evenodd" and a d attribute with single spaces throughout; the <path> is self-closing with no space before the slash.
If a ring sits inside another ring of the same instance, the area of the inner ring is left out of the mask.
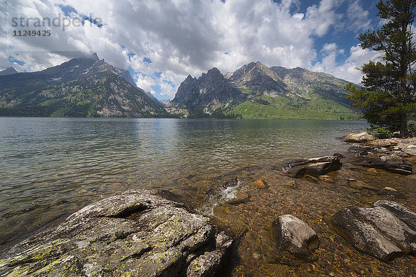
<path id="1" fill-rule="evenodd" d="M 387 206 L 388 208 L 385 208 Z M 396 202 L 376 202 L 372 208 L 350 206 L 333 215 L 338 231 L 354 247 L 381 260 L 415 253 L 416 214 Z"/>

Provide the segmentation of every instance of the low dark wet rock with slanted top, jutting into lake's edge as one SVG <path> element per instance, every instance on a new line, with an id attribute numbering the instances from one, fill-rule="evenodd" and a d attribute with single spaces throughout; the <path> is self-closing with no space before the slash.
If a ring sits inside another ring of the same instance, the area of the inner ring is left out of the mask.
<path id="1" fill-rule="evenodd" d="M 300 159 L 287 164 L 285 171 L 291 177 L 302 178 L 305 175 L 319 176 L 338 170 L 342 163 L 338 156 L 327 156 L 313 159 Z"/>

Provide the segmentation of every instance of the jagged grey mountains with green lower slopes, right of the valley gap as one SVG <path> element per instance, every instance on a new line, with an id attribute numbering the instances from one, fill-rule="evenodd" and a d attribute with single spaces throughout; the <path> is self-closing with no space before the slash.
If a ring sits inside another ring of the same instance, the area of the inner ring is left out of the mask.
<path id="1" fill-rule="evenodd" d="M 359 118 L 360 111 L 346 98 L 345 84 L 327 73 L 251 62 L 225 75 L 216 68 L 198 79 L 189 75 L 168 106 L 181 116 Z"/>

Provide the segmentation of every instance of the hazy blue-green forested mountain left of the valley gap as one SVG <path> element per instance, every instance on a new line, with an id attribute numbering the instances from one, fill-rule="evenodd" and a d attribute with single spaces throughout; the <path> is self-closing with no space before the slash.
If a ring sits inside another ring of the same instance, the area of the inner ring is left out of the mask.
<path id="1" fill-rule="evenodd" d="M 167 116 L 127 70 L 100 60 L 95 53 L 43 71 L 6 69 L 2 73 L 0 116 Z"/>

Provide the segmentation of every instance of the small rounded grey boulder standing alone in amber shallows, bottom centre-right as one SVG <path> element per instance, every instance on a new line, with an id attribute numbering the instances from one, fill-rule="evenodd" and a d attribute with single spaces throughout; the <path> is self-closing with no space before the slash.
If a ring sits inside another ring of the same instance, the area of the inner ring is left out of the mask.
<path id="1" fill-rule="evenodd" d="M 281 215 L 272 223 L 272 231 L 279 251 L 287 251 L 297 257 L 306 257 L 318 248 L 315 231 L 293 215 Z"/>

